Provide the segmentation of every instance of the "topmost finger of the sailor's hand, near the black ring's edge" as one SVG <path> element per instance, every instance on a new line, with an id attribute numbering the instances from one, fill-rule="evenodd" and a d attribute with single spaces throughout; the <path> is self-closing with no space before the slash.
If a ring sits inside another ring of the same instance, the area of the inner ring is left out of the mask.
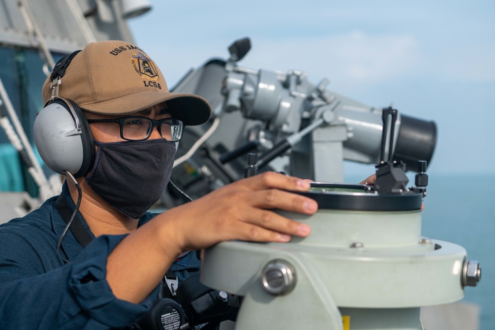
<path id="1" fill-rule="evenodd" d="M 307 180 L 302 180 L 275 172 L 264 172 L 255 175 L 254 177 L 238 181 L 238 183 L 245 185 L 251 190 L 277 188 L 284 190 L 306 191 L 311 187 Z"/>

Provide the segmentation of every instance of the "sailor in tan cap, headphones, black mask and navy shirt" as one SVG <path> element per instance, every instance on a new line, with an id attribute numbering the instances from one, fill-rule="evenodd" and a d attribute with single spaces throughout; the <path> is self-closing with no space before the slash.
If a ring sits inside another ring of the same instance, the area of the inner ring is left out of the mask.
<path id="1" fill-rule="evenodd" d="M 66 181 L 60 196 L 0 226 L 3 330 L 125 328 L 150 308 L 181 253 L 225 240 L 309 235 L 307 225 L 271 210 L 316 212 L 314 200 L 289 192 L 306 191 L 309 183 L 278 173 L 149 213 L 170 179 L 184 126 L 205 123 L 210 105 L 197 95 L 169 93 L 160 69 L 130 43 L 92 43 L 60 65 L 63 77 L 48 77 L 43 86 L 44 101 L 52 102 L 41 110 L 40 120 L 44 112 L 49 119 L 35 134 L 45 162 L 55 167 L 82 153 L 81 168 L 72 170 L 80 190 Z M 53 89 L 61 98 L 51 98 Z M 67 115 L 86 127 L 82 138 L 48 128 Z M 74 136 L 82 148 L 63 149 Z M 70 216 L 76 204 L 67 230 L 70 219 L 61 213 Z M 195 256 L 188 254 L 185 268 L 199 267 Z"/>

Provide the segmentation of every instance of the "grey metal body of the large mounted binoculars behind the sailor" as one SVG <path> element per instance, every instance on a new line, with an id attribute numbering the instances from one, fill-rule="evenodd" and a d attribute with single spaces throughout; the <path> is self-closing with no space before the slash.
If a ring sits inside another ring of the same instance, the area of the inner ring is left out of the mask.
<path id="1" fill-rule="evenodd" d="M 197 159 L 191 159 L 189 164 L 197 167 L 204 181 L 224 181 L 223 175 L 216 175 L 219 172 L 229 177 L 224 184 L 241 179 L 244 171 L 239 169 L 247 165 L 241 163 L 241 157 L 225 162 L 221 158 L 249 142 L 256 142 L 250 152 L 257 152 L 258 156 L 269 153 L 281 141 L 291 142 L 289 150 L 269 161 L 271 169 L 321 182 L 343 182 L 344 160 L 376 164 L 380 159 L 382 109 L 330 91 L 325 82 L 313 84 L 307 75 L 297 70 L 258 71 L 213 59 L 186 74 L 174 92 L 205 97 L 221 122 L 205 142 L 213 162 L 200 159 L 198 153 Z M 323 114 L 330 114 L 331 119 L 298 141 L 291 141 L 293 135 L 320 120 Z M 398 114 L 393 137 L 396 143 L 402 119 L 406 117 Z M 199 137 L 208 129 L 208 125 L 187 127 L 178 156 L 189 146 L 189 133 Z M 387 152 L 388 146 L 386 143 Z M 242 156 L 246 159 L 245 154 Z M 222 163 L 211 165 L 217 159 Z M 409 170 L 416 167 L 411 165 Z M 188 178 L 176 175 L 179 171 L 181 169 L 175 169 L 172 179 L 187 185 Z M 188 192 L 197 193 L 192 190 Z"/>

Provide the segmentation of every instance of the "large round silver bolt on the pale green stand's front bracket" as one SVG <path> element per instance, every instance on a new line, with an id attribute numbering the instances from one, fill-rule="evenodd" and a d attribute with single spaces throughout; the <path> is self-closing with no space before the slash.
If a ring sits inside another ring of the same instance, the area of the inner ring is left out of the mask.
<path id="1" fill-rule="evenodd" d="M 283 260 L 270 261 L 261 274 L 263 290 L 270 294 L 280 295 L 290 292 L 296 285 L 294 267 Z"/>

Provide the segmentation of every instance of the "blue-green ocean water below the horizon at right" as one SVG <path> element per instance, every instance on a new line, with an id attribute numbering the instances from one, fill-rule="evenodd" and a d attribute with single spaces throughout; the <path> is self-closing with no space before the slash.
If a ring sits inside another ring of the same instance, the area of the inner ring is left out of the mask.
<path id="1" fill-rule="evenodd" d="M 480 262 L 481 281 L 466 287 L 461 301 L 480 307 L 480 330 L 495 330 L 495 174 L 429 174 L 428 179 L 422 236 L 461 245 L 468 260 Z"/>

